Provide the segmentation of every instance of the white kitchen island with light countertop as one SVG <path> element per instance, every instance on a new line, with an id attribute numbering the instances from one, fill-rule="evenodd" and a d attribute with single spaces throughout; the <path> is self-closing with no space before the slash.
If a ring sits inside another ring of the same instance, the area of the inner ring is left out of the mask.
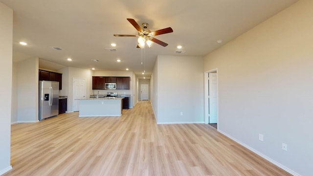
<path id="1" fill-rule="evenodd" d="M 79 99 L 79 117 L 121 116 L 123 98 Z"/>

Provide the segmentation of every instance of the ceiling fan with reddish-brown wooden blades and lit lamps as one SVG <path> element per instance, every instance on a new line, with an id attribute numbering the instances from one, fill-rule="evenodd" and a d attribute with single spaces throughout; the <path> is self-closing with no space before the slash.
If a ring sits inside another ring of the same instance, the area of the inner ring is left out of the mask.
<path id="1" fill-rule="evenodd" d="M 165 42 L 162 42 L 160 40 L 157 40 L 154 38 L 154 36 L 161 35 L 161 34 L 167 34 L 173 32 L 173 29 L 171 27 L 167 27 L 164 29 L 156 30 L 151 32 L 148 29 L 149 24 L 144 22 L 142 23 L 141 28 L 139 24 L 134 20 L 134 19 L 127 19 L 138 31 L 138 35 L 119 35 L 119 34 L 114 34 L 115 37 L 138 37 L 138 45 L 137 48 L 144 48 L 145 43 L 150 47 L 153 42 L 162 46 L 167 46 Z"/>

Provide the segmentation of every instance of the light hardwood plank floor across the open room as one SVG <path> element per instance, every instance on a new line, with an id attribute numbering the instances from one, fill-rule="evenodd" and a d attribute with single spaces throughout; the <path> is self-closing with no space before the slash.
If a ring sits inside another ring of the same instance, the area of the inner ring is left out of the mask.
<path id="1" fill-rule="evenodd" d="M 149 101 L 122 117 L 13 124 L 11 138 L 3 176 L 290 176 L 208 124 L 157 125 Z"/>

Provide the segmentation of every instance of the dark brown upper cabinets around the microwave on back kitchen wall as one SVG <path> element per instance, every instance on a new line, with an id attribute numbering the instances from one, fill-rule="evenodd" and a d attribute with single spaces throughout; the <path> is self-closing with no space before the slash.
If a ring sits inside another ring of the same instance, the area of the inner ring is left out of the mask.
<path id="1" fill-rule="evenodd" d="M 105 83 L 116 83 L 116 89 L 130 89 L 130 77 L 92 76 L 92 89 L 105 89 Z"/>

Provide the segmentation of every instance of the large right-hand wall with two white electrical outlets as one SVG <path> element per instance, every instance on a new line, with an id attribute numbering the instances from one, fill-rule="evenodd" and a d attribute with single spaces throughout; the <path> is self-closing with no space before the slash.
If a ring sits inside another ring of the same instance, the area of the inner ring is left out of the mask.
<path id="1" fill-rule="evenodd" d="M 313 163 L 312 41 L 313 1 L 299 0 L 208 54 L 204 66 L 219 69 L 219 130 L 303 176 Z"/>

